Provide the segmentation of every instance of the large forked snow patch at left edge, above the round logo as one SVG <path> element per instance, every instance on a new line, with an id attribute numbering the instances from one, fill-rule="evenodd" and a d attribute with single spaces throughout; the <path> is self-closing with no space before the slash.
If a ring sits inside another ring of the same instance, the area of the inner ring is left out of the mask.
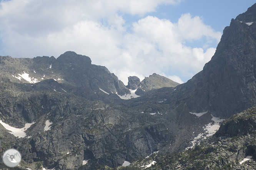
<path id="1" fill-rule="evenodd" d="M 26 123 L 25 126 L 23 128 L 16 128 L 16 127 L 12 127 L 6 123 L 3 123 L 3 121 L 0 120 L 0 123 L 3 125 L 3 127 L 5 129 L 7 129 L 9 131 L 9 133 L 13 134 L 14 136 L 20 138 L 20 137 L 26 137 L 26 133 L 25 130 L 27 130 L 32 124 L 34 124 L 35 122 L 32 123 Z"/>

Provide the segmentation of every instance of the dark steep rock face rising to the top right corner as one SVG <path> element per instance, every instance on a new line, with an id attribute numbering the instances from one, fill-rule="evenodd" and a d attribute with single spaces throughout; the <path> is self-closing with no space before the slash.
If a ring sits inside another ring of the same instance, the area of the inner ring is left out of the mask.
<path id="1" fill-rule="evenodd" d="M 248 18 L 247 18 L 248 17 Z M 243 20 L 242 20 L 243 19 Z M 248 23 L 248 22 L 251 23 Z M 232 19 L 212 59 L 188 82 L 143 96 L 228 118 L 256 104 L 256 4 Z M 156 96 L 156 94 L 158 94 Z M 140 99 L 141 100 L 141 99 Z M 160 99 L 159 99 L 160 100 Z M 177 114 L 183 114 L 179 112 Z"/>

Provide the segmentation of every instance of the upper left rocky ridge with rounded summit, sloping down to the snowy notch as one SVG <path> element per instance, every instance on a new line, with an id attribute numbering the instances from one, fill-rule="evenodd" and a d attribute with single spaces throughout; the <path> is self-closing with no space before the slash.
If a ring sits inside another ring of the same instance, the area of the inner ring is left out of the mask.
<path id="1" fill-rule="evenodd" d="M 80 88 L 80 95 L 91 98 L 99 88 L 107 93 L 130 94 L 123 82 L 110 73 L 106 67 L 91 64 L 87 56 L 75 52 L 65 52 L 57 59 L 54 57 L 12 58 L 0 56 L 0 76 L 8 77 L 16 83 L 36 83 L 54 79 Z"/>

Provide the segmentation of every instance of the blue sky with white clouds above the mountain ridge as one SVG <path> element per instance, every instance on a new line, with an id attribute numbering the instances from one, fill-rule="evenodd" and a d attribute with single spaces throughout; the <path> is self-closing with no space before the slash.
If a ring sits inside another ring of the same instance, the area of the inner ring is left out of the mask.
<path id="1" fill-rule="evenodd" d="M 157 73 L 182 83 L 213 56 L 254 0 L 0 0 L 0 56 L 75 51 L 125 84 Z"/>

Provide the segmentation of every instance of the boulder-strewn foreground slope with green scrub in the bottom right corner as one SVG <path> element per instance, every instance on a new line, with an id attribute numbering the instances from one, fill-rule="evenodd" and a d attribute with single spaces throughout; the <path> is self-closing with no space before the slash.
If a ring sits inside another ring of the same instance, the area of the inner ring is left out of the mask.
<path id="1" fill-rule="evenodd" d="M 154 153 L 131 163 L 143 170 L 252 170 L 256 168 L 256 106 L 226 119 L 219 130 L 193 149 L 173 154 Z M 125 170 L 124 167 L 119 167 Z M 107 167 L 106 167 L 107 169 Z M 111 168 L 108 167 L 109 170 Z"/>

